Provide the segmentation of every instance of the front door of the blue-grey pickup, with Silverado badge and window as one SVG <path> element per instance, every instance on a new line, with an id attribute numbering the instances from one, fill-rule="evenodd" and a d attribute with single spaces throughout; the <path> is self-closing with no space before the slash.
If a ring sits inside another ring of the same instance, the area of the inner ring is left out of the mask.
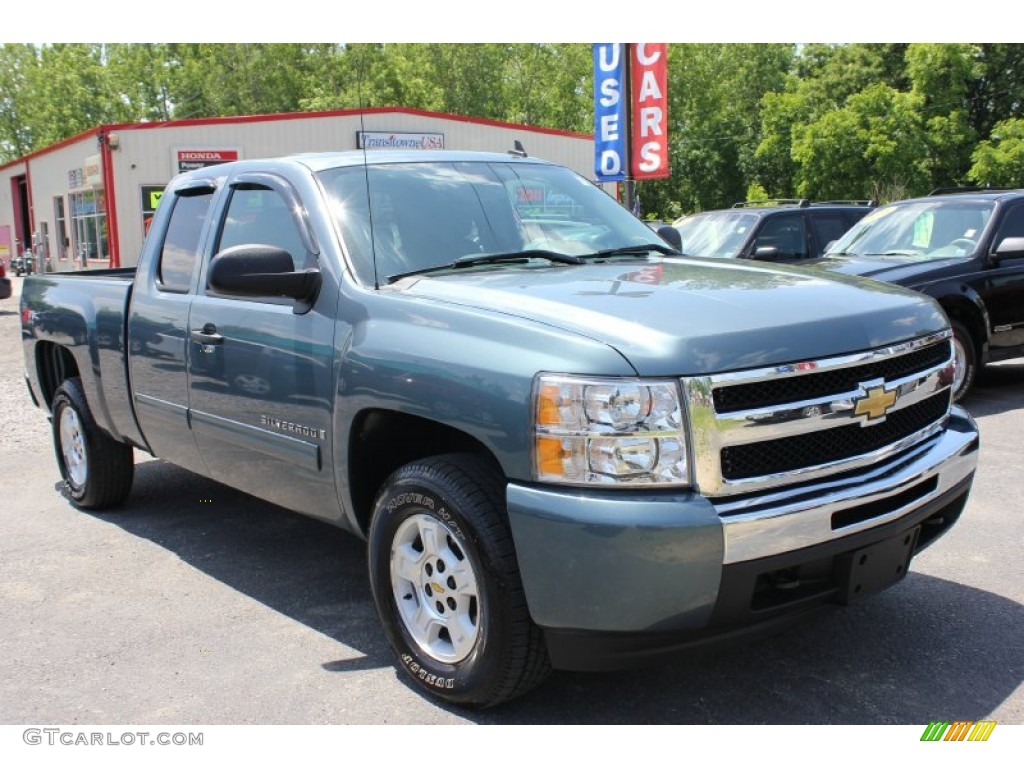
<path id="1" fill-rule="evenodd" d="M 215 214 L 189 317 L 193 431 L 212 477 L 316 517 L 339 515 L 332 441 L 337 286 L 311 306 L 272 296 L 225 295 L 209 265 L 232 246 L 285 249 L 296 270 L 318 247 L 296 186 L 281 175 L 228 180 Z"/>

